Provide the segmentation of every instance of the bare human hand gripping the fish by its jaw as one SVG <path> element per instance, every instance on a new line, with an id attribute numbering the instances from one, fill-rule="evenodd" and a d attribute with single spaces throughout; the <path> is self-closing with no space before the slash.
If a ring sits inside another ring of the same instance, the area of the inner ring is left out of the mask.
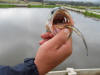
<path id="1" fill-rule="evenodd" d="M 46 74 L 71 55 L 72 38 L 67 39 L 69 33 L 68 29 L 64 29 L 54 37 L 51 33 L 41 35 L 43 40 L 34 61 L 39 75 Z"/>

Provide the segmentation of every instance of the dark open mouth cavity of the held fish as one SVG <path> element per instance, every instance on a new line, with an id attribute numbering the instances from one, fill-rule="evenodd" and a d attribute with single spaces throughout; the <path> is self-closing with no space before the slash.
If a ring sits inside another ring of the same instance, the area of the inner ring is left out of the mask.
<path id="1" fill-rule="evenodd" d="M 57 13 L 54 16 L 53 19 L 53 25 L 57 26 L 58 28 L 64 28 L 66 25 L 68 25 L 69 19 L 67 18 L 67 15 L 65 13 Z"/>

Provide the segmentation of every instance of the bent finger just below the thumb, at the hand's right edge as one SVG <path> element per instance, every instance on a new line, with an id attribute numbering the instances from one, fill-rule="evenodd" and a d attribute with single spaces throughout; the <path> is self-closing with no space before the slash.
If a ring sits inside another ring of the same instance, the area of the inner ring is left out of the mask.
<path id="1" fill-rule="evenodd" d="M 72 54 L 72 38 L 70 38 L 62 47 L 57 51 L 59 58 L 65 59 Z"/>

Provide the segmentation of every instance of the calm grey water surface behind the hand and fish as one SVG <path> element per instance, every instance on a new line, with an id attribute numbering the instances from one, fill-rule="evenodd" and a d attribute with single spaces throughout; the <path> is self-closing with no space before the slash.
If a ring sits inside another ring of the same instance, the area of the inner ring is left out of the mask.
<path id="1" fill-rule="evenodd" d="M 40 34 L 51 9 L 10 8 L 0 9 L 0 65 L 16 65 L 24 58 L 35 57 Z M 73 34 L 73 54 L 54 70 L 66 67 L 100 68 L 100 20 L 70 11 L 75 25 L 86 38 L 89 56 L 82 40 Z"/>

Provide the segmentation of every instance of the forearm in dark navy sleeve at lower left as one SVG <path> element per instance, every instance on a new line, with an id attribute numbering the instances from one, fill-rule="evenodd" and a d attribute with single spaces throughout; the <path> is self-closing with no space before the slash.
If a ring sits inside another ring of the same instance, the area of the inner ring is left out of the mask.
<path id="1" fill-rule="evenodd" d="M 24 63 L 15 67 L 0 66 L 0 75 L 39 75 L 33 59 L 27 59 Z"/>

